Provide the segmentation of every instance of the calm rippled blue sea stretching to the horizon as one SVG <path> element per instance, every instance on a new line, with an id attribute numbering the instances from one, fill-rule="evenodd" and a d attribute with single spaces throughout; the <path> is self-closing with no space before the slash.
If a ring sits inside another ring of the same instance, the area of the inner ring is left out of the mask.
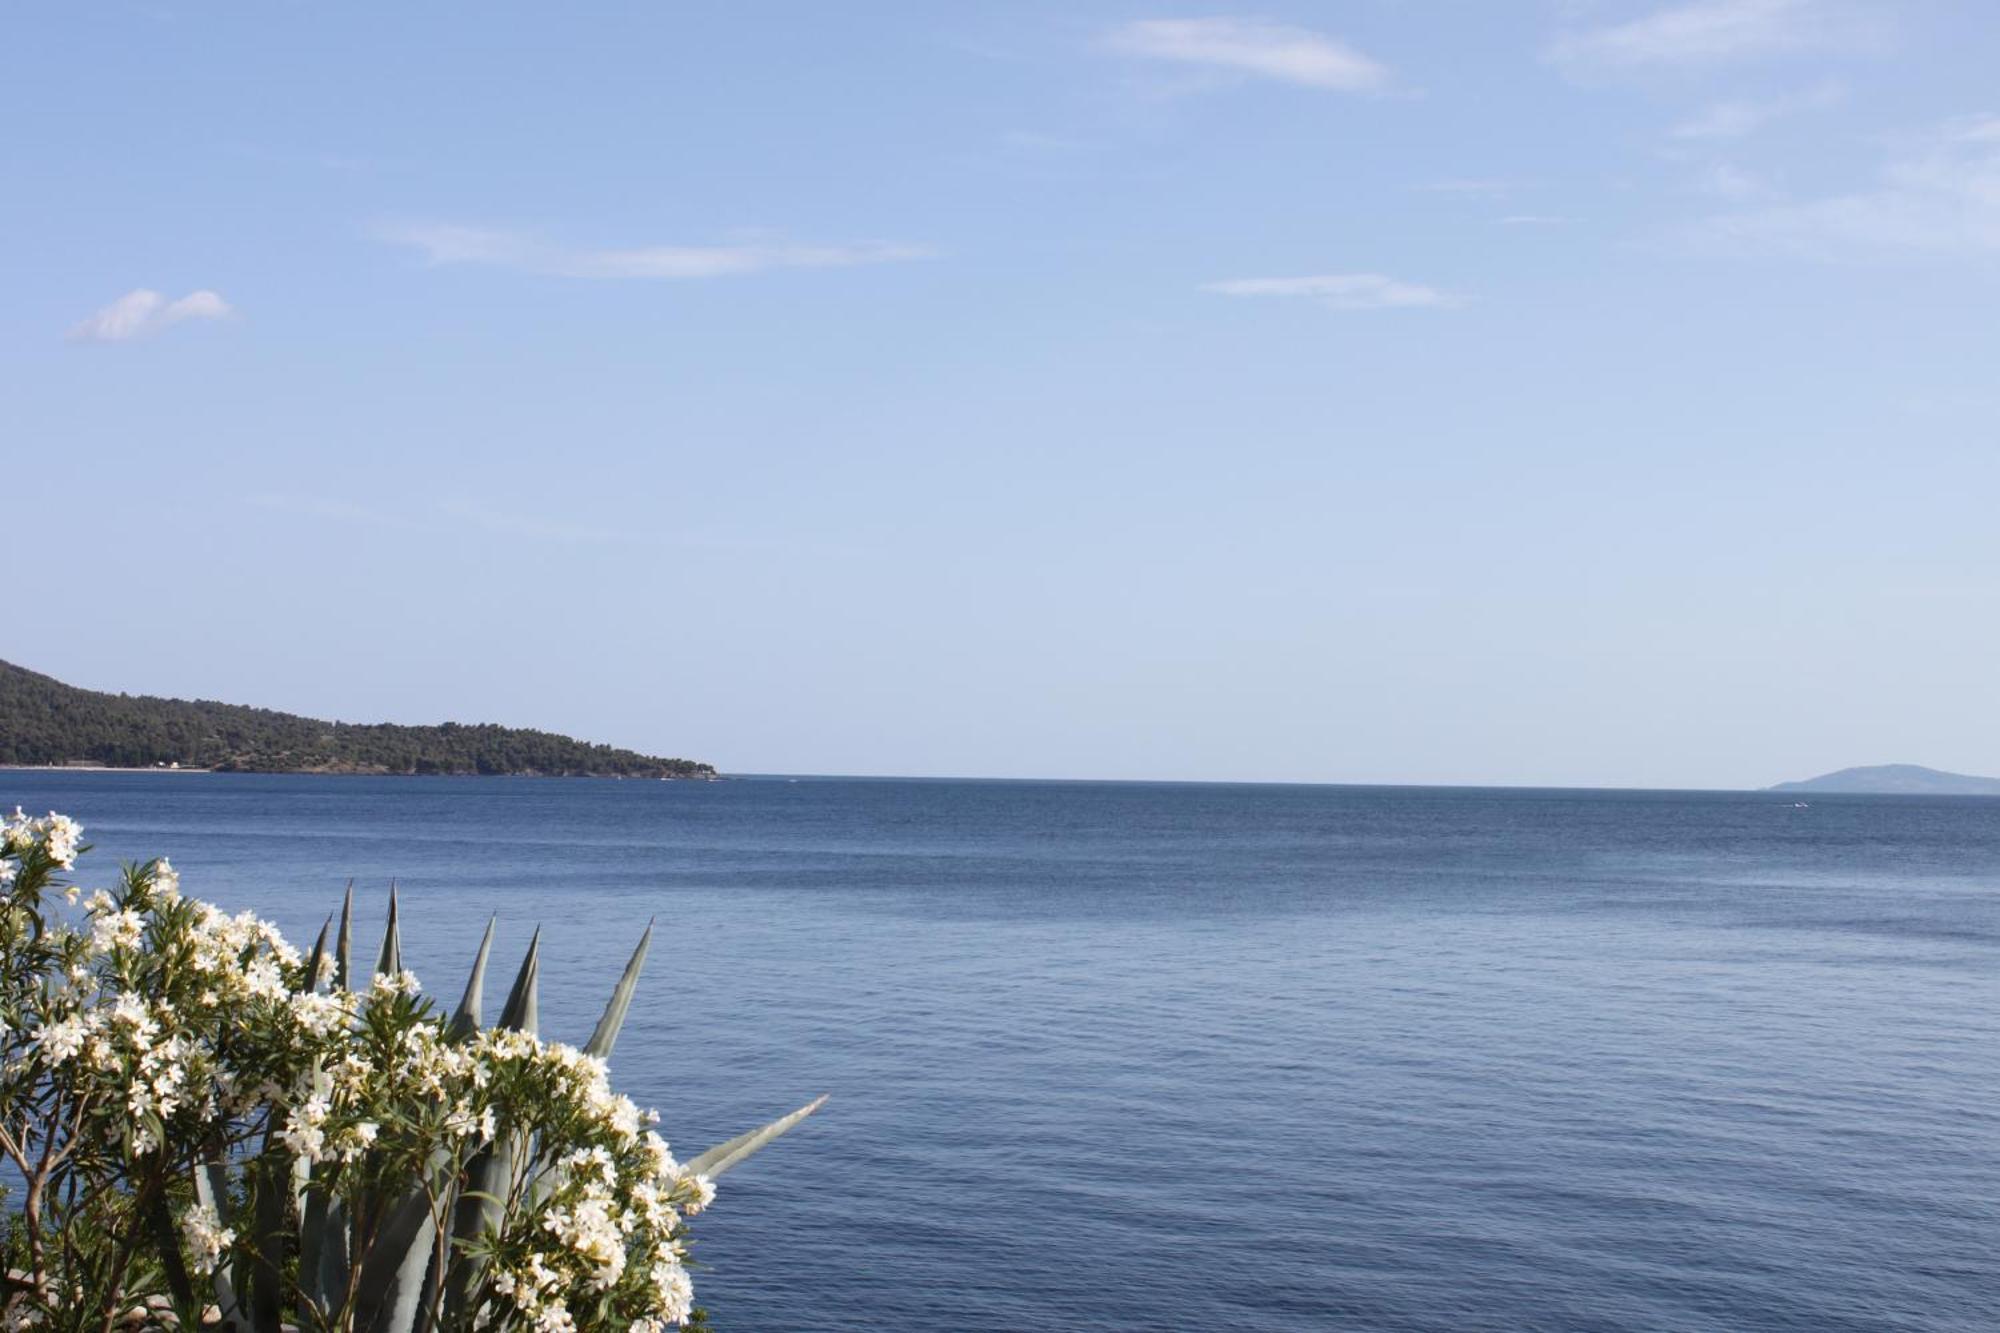
<path id="1" fill-rule="evenodd" d="M 722 1329 L 2000 1327 L 2000 801 L 4 773 L 446 1003 L 540 925 Z"/>

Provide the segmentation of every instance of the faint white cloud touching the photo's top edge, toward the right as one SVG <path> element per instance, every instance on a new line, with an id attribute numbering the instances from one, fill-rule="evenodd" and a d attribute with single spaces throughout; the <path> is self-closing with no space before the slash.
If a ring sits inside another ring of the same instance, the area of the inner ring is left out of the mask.
<path id="1" fill-rule="evenodd" d="M 1572 66 L 1704 66 L 1846 46 L 1862 26 L 1820 0 L 1694 0 L 1622 24 L 1566 32 L 1548 48 Z"/>

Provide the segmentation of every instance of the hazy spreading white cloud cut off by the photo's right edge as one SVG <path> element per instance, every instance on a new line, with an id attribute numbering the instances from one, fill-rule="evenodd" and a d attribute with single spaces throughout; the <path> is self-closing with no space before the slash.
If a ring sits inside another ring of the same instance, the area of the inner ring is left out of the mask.
<path id="1" fill-rule="evenodd" d="M 1904 140 L 1868 190 L 1708 218 L 1694 238 L 1820 258 L 2000 254 L 2000 116 Z"/>

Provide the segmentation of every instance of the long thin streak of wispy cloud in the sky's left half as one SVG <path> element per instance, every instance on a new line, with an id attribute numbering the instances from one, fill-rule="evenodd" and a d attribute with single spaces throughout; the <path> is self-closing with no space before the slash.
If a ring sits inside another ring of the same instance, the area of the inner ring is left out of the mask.
<path id="1" fill-rule="evenodd" d="M 924 246 L 890 242 L 830 246 L 762 238 L 710 246 L 580 248 L 532 232 L 456 222 L 384 224 L 374 228 L 374 236 L 418 250 L 428 264 L 486 264 L 562 278 L 724 278 L 772 268 L 888 264 L 932 254 Z"/>

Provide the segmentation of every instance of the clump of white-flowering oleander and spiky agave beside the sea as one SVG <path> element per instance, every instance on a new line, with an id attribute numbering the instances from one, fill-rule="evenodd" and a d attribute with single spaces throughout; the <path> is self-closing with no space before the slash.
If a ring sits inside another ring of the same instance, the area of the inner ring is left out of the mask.
<path id="1" fill-rule="evenodd" d="M 650 927 L 576 1049 L 536 1037 L 534 945 L 482 1025 L 490 925 L 442 1015 L 394 895 L 360 975 L 352 893 L 300 955 L 166 861 L 78 903 L 80 833 L 0 825 L 0 1327 L 684 1325 L 688 1219 L 820 1105 L 676 1161 L 604 1063 Z"/>

